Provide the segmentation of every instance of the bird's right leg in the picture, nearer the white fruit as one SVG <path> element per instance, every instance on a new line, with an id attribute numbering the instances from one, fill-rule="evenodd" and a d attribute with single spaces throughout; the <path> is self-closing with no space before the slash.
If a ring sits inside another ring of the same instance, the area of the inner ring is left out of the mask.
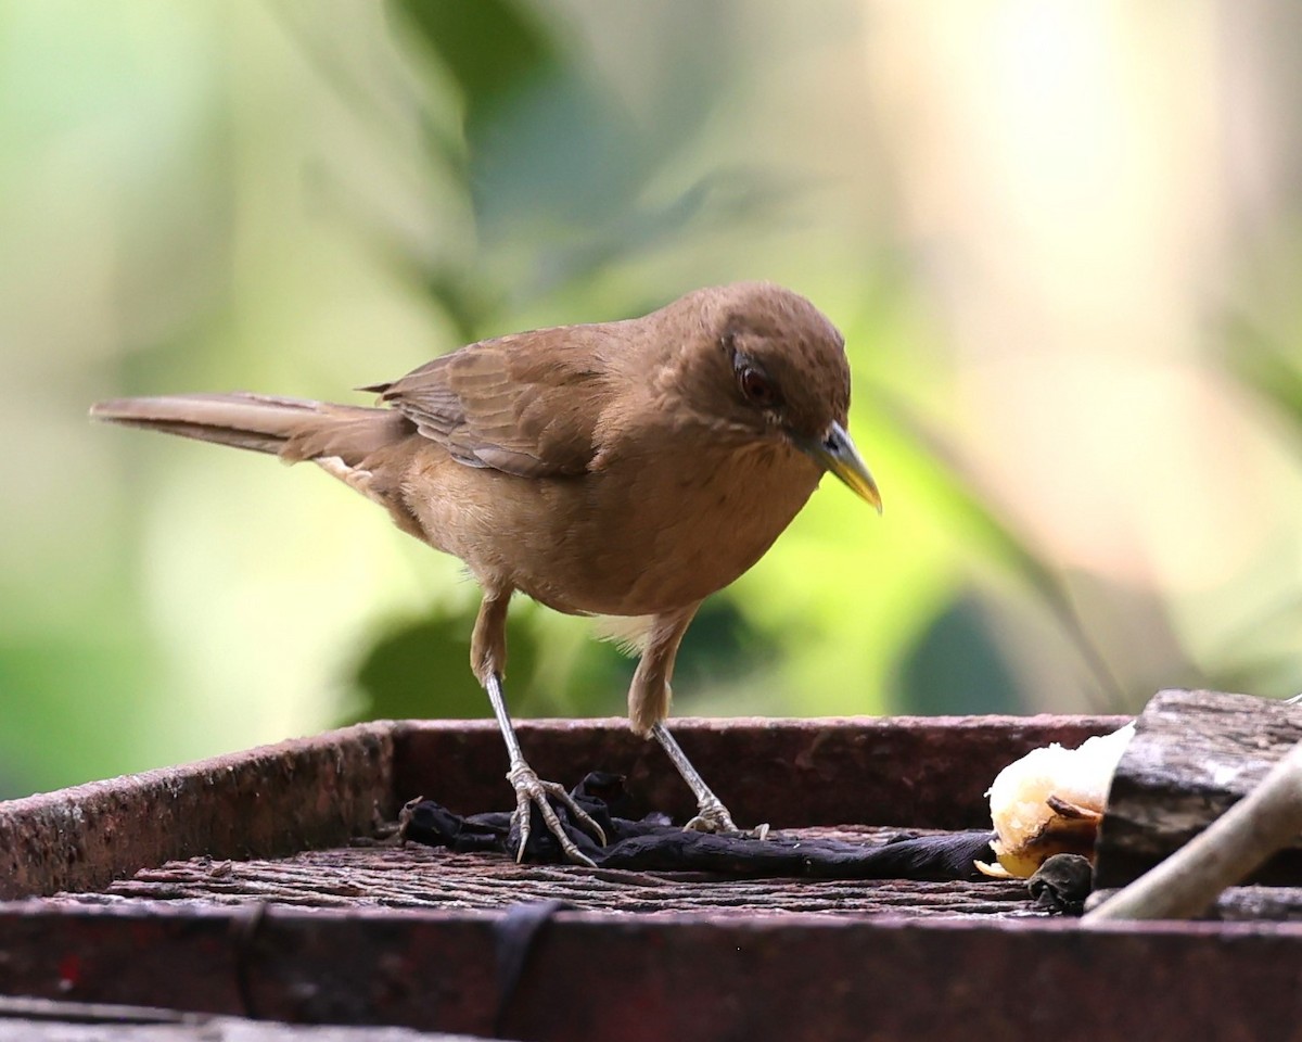
<path id="1" fill-rule="evenodd" d="M 687 632 L 698 607 L 699 602 L 676 612 L 658 615 L 652 621 L 646 647 L 642 651 L 642 660 L 633 675 L 633 686 L 629 688 L 629 723 L 637 733 L 654 736 L 660 742 L 678 774 L 682 775 L 682 780 L 687 783 L 693 796 L 697 797 L 697 817 L 687 822 L 687 828 L 763 839 L 768 835 L 768 826 L 762 824 L 754 830 L 738 828 L 733 823 L 728 808 L 715 796 L 700 772 L 691 766 L 682 746 L 664 725 L 664 719 L 669 715 L 669 680 L 673 676 L 673 660 L 678 654 L 682 634 Z"/>

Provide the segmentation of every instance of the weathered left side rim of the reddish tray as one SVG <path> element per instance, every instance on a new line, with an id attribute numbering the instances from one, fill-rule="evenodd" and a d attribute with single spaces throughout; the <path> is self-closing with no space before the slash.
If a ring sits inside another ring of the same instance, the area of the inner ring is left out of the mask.
<path id="1" fill-rule="evenodd" d="M 0 802 L 0 899 L 94 890 L 169 858 L 288 854 L 392 815 L 392 724 L 361 724 Z"/>

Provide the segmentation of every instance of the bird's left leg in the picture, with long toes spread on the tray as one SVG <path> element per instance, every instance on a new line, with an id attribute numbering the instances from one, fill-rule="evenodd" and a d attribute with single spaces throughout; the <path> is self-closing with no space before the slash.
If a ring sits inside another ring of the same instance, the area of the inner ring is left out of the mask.
<path id="1" fill-rule="evenodd" d="M 509 599 L 509 590 L 496 597 L 484 594 L 471 641 L 471 664 L 475 668 L 475 673 L 479 675 L 484 690 L 488 693 L 493 715 L 497 718 L 497 727 L 501 731 L 503 740 L 506 742 L 506 758 L 510 762 L 510 767 L 506 771 L 506 780 L 516 789 L 516 817 L 519 821 L 519 847 L 516 851 L 516 861 L 518 862 L 525 857 L 531 818 L 530 805 L 534 805 L 543 815 L 548 831 L 556 836 L 556 841 L 565 852 L 565 856 L 577 865 L 587 865 L 595 869 L 596 864 L 592 858 L 579 851 L 574 845 L 574 840 L 565 835 L 565 827 L 561 824 L 560 818 L 556 817 L 556 811 L 547 801 L 547 797 L 553 796 L 560 800 L 565 805 L 565 809 L 569 810 L 574 823 L 586 827 L 603 847 L 605 845 L 605 832 L 583 808 L 574 802 L 574 797 L 565 791 L 564 785 L 557 782 L 544 782 L 525 762 L 525 755 L 519 749 L 519 739 L 516 737 L 516 728 L 512 725 L 510 714 L 506 711 L 506 696 L 501 688 L 501 667 L 506 656 L 505 621 Z"/>

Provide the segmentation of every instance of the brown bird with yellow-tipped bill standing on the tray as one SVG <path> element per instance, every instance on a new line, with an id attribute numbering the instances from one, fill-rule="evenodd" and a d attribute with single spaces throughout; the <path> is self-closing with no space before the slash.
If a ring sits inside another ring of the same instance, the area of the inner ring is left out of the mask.
<path id="1" fill-rule="evenodd" d="M 850 370 L 832 323 L 788 289 L 740 283 L 644 318 L 483 340 L 362 389 L 387 408 L 237 392 L 120 399 L 91 415 L 311 460 L 465 561 L 483 589 L 470 666 L 506 741 L 517 858 L 533 802 L 568 857 L 591 864 L 548 793 L 604 836 L 538 778 L 512 728 L 516 590 L 572 615 L 644 620 L 629 723 L 691 787 L 689 826 L 740 834 L 665 727 L 669 679 L 700 602 L 759 560 L 824 472 L 881 509 L 845 430 Z"/>

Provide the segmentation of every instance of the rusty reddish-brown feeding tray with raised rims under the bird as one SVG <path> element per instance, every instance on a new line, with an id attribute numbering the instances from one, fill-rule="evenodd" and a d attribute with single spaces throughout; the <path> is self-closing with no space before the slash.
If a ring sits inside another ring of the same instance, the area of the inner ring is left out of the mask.
<path id="1" fill-rule="evenodd" d="M 988 827 L 1001 767 L 1122 723 L 674 733 L 738 821 L 874 843 Z M 544 778 L 615 771 L 648 806 L 693 809 L 622 720 L 519 735 Z M 504 768 L 491 722 L 381 722 L 0 804 L 0 995 L 575 1042 L 1302 1038 L 1299 922 L 1082 929 L 1021 882 L 594 871 L 375 840 L 414 796 L 505 809 Z"/>

